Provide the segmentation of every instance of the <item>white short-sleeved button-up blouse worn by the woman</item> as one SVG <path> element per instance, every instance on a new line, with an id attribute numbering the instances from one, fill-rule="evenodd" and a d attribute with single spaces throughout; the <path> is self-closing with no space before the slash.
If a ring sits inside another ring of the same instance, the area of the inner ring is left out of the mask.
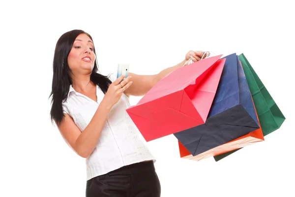
<path id="1" fill-rule="evenodd" d="M 114 77 L 110 78 L 113 82 Z M 66 101 L 62 103 L 63 113 L 69 114 L 80 131 L 91 121 L 104 93 L 96 86 L 97 102 L 76 92 L 70 85 Z M 86 159 L 87 180 L 106 174 L 124 165 L 153 160 L 147 142 L 126 112 L 129 98 L 123 94 L 111 109 L 98 143 Z"/>

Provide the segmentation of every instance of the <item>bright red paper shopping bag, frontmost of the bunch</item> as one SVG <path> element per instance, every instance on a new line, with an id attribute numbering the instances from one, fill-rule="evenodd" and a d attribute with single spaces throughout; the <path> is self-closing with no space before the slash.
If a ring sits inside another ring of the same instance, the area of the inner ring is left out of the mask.
<path id="1" fill-rule="evenodd" d="M 126 109 L 146 141 L 205 123 L 225 63 L 221 56 L 174 70 Z"/>

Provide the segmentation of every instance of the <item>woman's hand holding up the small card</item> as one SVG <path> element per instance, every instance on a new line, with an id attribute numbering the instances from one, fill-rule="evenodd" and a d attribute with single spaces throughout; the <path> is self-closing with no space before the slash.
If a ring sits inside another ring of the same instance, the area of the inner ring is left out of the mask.
<path id="1" fill-rule="evenodd" d="M 130 81 L 131 76 L 128 76 L 126 79 L 124 77 L 124 75 L 120 76 L 109 86 L 104 96 L 107 106 L 113 107 L 119 101 L 123 92 L 132 84 L 132 81 Z"/>

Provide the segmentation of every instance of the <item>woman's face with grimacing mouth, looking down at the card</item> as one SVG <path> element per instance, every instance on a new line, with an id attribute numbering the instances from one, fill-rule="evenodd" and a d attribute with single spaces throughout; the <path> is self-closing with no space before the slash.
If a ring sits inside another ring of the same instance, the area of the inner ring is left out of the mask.
<path id="1" fill-rule="evenodd" d="M 91 73 L 95 58 L 93 42 L 88 35 L 81 33 L 76 37 L 68 56 L 67 61 L 70 69 L 74 73 Z"/>

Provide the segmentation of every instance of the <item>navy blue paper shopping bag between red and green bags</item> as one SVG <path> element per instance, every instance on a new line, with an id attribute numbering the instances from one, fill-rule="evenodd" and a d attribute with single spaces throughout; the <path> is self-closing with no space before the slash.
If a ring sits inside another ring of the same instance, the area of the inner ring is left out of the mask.
<path id="1" fill-rule="evenodd" d="M 226 62 L 206 123 L 174 133 L 192 156 L 260 128 L 236 53 L 223 59 Z"/>

